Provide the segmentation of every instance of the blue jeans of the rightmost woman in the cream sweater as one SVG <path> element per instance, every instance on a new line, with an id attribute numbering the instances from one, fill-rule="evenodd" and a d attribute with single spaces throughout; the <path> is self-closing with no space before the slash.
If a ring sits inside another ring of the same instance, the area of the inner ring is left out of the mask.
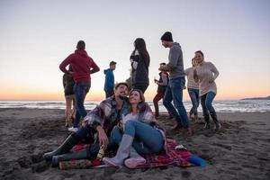
<path id="1" fill-rule="evenodd" d="M 201 96 L 201 103 L 202 103 L 202 112 L 203 115 L 208 115 L 209 112 L 215 112 L 215 109 L 211 105 L 212 100 L 215 98 L 216 94 L 213 92 L 208 92 L 207 94 L 203 94 Z"/>

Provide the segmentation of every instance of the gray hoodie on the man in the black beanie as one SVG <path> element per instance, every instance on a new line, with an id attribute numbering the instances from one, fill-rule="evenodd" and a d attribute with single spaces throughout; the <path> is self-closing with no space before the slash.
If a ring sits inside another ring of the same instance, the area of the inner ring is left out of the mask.
<path id="1" fill-rule="evenodd" d="M 173 46 L 170 48 L 168 60 L 169 62 L 163 69 L 169 72 L 170 79 L 184 76 L 183 53 L 179 43 L 173 43 Z"/>

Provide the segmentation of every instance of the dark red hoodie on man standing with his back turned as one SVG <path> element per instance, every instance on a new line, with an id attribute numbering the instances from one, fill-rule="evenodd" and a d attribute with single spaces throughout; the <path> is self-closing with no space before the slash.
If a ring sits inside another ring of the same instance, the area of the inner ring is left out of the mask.
<path id="1" fill-rule="evenodd" d="M 73 69 L 73 75 L 66 69 L 69 64 Z M 94 63 L 93 58 L 89 57 L 83 49 L 76 49 L 60 64 L 59 68 L 67 75 L 72 75 L 76 83 L 89 82 L 90 74 L 99 71 L 99 67 Z"/>

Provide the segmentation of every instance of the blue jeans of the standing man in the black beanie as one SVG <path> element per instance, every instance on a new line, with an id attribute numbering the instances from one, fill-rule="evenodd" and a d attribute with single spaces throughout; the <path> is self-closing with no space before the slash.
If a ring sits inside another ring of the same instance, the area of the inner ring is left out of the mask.
<path id="1" fill-rule="evenodd" d="M 185 79 L 182 76 L 170 79 L 169 85 L 166 86 L 163 104 L 168 112 L 170 112 L 178 120 L 182 121 L 184 127 L 189 127 L 189 122 L 183 103 L 184 83 Z M 174 101 L 175 106 L 172 104 L 172 101 Z"/>

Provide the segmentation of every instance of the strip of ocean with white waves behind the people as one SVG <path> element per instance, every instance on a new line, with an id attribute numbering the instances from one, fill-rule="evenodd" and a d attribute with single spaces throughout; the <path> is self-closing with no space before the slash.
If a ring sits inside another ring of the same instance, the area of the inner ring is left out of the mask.
<path id="1" fill-rule="evenodd" d="M 98 103 L 96 101 L 85 101 L 86 110 L 92 110 Z M 154 105 L 148 102 L 152 110 Z M 270 112 L 270 100 L 227 100 L 214 101 L 213 106 L 217 112 Z M 187 112 L 192 107 L 190 101 L 184 102 Z M 38 109 L 65 109 L 65 101 L 0 101 L 0 108 L 38 108 Z M 166 112 L 162 102 L 159 102 L 159 111 Z M 202 112 L 201 104 L 198 108 Z"/>

